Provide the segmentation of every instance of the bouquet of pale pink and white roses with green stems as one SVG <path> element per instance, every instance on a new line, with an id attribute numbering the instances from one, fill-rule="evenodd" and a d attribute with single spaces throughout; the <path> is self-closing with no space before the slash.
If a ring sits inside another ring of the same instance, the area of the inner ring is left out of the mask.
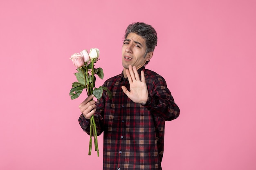
<path id="1" fill-rule="evenodd" d="M 104 86 L 95 88 L 96 77 L 94 75 L 98 75 L 101 79 L 104 77 L 102 68 L 94 68 L 94 63 L 99 60 L 99 49 L 90 49 L 90 53 L 88 53 L 87 50 L 83 50 L 80 53 L 74 53 L 71 55 L 70 59 L 72 60 L 74 66 L 78 67 L 76 69 L 78 72 L 75 73 L 78 82 L 74 82 L 72 84 L 72 88 L 70 90 L 71 99 L 76 99 L 79 97 L 83 89 L 86 89 L 88 96 L 93 94 L 97 99 L 102 97 L 103 90 L 105 90 L 108 93 L 110 99 L 112 99 L 112 93 L 108 88 Z M 92 134 L 94 137 L 95 151 L 97 151 L 97 155 L 99 157 L 97 129 L 93 115 L 90 119 L 89 155 L 91 155 L 92 151 Z"/>

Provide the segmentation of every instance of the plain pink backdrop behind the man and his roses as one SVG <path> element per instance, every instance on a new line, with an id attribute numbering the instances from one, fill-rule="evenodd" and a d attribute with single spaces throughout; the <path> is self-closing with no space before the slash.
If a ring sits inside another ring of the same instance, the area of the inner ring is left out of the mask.
<path id="1" fill-rule="evenodd" d="M 166 122 L 164 170 L 256 169 L 254 0 L 1 0 L 0 169 L 102 169 L 71 100 L 70 55 L 99 48 L 103 80 L 121 73 L 126 26 L 151 24 L 146 68 L 168 83 L 180 117 Z"/>

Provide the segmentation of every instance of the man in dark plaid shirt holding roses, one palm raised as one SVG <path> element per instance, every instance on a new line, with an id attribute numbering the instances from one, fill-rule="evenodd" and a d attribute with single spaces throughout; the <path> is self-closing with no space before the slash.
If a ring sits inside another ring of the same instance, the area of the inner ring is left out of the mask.
<path id="1" fill-rule="evenodd" d="M 103 170 L 162 170 L 164 124 L 180 109 L 164 78 L 145 68 L 156 45 L 152 26 L 130 24 L 122 47 L 124 70 L 103 85 L 113 98 L 103 93 L 96 103 L 91 95 L 79 105 L 83 130 L 89 134 L 94 115 L 97 134 L 104 132 Z"/>

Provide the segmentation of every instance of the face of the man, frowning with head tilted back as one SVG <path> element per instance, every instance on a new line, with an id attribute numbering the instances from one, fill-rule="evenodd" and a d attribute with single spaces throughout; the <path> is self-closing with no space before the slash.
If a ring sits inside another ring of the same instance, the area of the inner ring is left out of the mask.
<path id="1" fill-rule="evenodd" d="M 146 53 L 146 40 L 136 33 L 129 33 L 124 40 L 122 47 L 122 64 L 124 69 L 128 66 L 136 66 L 137 69 L 144 66 L 146 61 L 150 60 L 153 52 Z"/>

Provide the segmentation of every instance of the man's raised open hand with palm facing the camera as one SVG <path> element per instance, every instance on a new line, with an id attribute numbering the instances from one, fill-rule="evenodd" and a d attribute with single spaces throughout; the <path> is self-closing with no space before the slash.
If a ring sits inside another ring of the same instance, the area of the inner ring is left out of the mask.
<path id="1" fill-rule="evenodd" d="M 126 75 L 130 84 L 130 91 L 122 86 L 124 93 L 135 103 L 146 104 L 148 100 L 148 89 L 145 81 L 144 71 L 141 71 L 141 79 L 135 66 L 129 66 Z"/>

